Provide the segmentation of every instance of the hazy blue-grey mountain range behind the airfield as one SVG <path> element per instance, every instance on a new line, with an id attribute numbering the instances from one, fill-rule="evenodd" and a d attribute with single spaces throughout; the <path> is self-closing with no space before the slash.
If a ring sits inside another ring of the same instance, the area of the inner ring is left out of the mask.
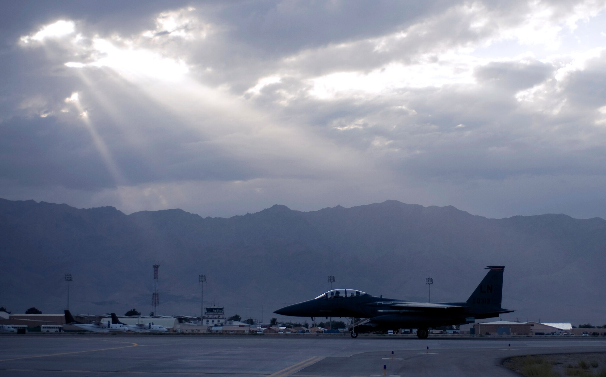
<path id="1" fill-rule="evenodd" d="M 0 305 L 45 313 L 67 304 L 83 313 L 151 311 L 158 262 L 160 314 L 200 312 L 204 301 L 229 315 L 264 319 L 285 304 L 333 287 L 427 301 L 465 300 L 485 265 L 504 264 L 507 319 L 606 323 L 606 221 L 566 215 L 487 219 L 454 207 L 398 201 L 315 212 L 274 205 L 232 218 L 179 209 L 0 199 Z"/>

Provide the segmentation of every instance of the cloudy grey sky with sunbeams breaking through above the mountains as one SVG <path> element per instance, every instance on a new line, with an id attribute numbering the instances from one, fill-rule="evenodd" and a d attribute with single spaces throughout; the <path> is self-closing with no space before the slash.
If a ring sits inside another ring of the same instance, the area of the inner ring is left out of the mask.
<path id="1" fill-rule="evenodd" d="M 18 1 L 0 197 L 606 218 L 604 1 Z"/>

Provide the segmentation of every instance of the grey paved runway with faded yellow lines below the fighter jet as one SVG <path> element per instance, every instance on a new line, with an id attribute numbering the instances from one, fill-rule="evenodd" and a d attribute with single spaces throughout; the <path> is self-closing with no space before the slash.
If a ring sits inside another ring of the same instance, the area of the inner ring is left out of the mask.
<path id="1" fill-rule="evenodd" d="M 606 338 L 9 335 L 0 376 L 516 376 L 502 359 L 568 352 Z"/>

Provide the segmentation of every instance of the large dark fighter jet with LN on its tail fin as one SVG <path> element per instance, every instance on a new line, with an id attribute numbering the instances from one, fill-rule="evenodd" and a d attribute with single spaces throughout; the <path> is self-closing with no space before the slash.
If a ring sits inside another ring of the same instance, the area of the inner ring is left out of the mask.
<path id="1" fill-rule="evenodd" d="M 274 313 L 311 317 L 312 321 L 315 317 L 348 317 L 351 338 L 357 338 L 358 333 L 417 329 L 418 338 L 425 339 L 430 328 L 467 324 L 513 312 L 501 307 L 505 266 L 489 265 L 487 269 L 488 273 L 465 302 L 410 302 L 371 296 L 356 289 L 333 289 Z"/>

